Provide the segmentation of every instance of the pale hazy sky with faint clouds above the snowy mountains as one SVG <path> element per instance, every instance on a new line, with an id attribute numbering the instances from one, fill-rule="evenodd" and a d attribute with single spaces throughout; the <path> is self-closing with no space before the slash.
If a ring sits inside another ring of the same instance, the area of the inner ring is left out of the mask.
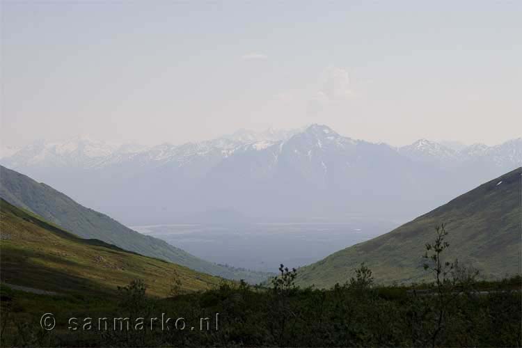
<path id="1" fill-rule="evenodd" d="M 522 136 L 522 1 L 1 1 L 1 141 Z"/>

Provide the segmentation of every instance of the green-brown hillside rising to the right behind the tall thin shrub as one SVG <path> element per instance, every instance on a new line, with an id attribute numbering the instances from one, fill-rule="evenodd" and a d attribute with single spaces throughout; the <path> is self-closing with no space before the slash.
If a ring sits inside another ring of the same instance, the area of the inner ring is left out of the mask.
<path id="1" fill-rule="evenodd" d="M 386 235 L 303 267 L 297 283 L 318 287 L 344 283 L 361 262 L 381 283 L 425 279 L 421 256 L 425 243 L 434 239 L 434 226 L 440 223 L 446 223 L 449 232 L 446 260 L 458 258 L 486 278 L 520 274 L 521 173 L 522 168 L 517 168 Z"/>

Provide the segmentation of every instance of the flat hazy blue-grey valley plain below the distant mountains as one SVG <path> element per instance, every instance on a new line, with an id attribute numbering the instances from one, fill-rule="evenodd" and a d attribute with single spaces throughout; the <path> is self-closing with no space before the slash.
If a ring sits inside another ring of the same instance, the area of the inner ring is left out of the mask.
<path id="1" fill-rule="evenodd" d="M 131 226 L 205 260 L 258 271 L 301 267 L 399 226 L 391 221 Z M 216 247 L 219 246 L 219 247 Z"/>

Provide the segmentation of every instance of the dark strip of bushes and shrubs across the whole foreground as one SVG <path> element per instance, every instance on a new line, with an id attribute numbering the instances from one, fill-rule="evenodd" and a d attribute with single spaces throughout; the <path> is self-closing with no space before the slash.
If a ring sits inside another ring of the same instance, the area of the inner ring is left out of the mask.
<path id="1" fill-rule="evenodd" d="M 297 287 L 298 273 L 283 265 L 269 287 L 221 282 L 187 293 L 173 274 L 167 298 L 148 296 L 142 280 L 118 287 L 110 297 L 36 295 L 2 286 L 1 345 L 521 347 L 522 278 L 480 280 L 477 271 L 445 258 L 447 237 L 445 226 L 439 226 L 433 242 L 425 244 L 424 268 L 431 281 L 407 286 L 376 285 L 365 264 L 329 290 Z M 53 331 L 40 329 L 43 313 L 56 315 Z M 185 329 L 171 322 L 170 330 L 161 330 L 161 313 L 183 317 Z M 76 325 L 68 323 L 70 317 Z M 109 318 L 109 330 L 99 331 L 97 319 L 90 330 L 82 329 L 86 317 Z M 114 330 L 114 317 L 128 317 L 131 329 Z M 143 329 L 134 325 L 140 317 Z M 152 331 L 150 317 L 159 317 Z M 202 324 L 202 317 L 209 321 Z"/>

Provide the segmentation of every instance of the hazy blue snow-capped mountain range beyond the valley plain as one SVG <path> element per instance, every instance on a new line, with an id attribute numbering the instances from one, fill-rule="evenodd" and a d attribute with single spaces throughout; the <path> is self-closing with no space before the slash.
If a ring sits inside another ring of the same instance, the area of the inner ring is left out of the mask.
<path id="1" fill-rule="evenodd" d="M 252 221 L 405 221 L 522 164 L 522 139 L 455 148 L 395 148 L 310 125 L 150 147 L 40 141 L 2 151 L 0 163 L 132 225 L 223 209 Z"/>

